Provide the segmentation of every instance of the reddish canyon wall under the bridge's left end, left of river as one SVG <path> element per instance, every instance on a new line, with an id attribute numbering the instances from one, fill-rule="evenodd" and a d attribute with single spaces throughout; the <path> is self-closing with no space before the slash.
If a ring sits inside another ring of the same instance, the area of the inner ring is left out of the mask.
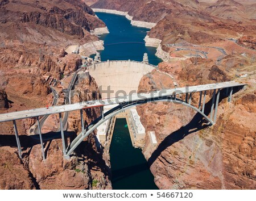
<path id="1" fill-rule="evenodd" d="M 86 90 L 87 94 L 86 97 L 75 97 L 74 102 L 92 99 L 93 91 L 98 89 L 94 79 L 86 73 L 80 77 L 76 90 Z M 85 111 L 85 124 L 88 125 L 99 114 L 98 110 Z M 30 128 L 32 124 L 34 121 L 31 119 L 17 121 L 23 160 L 18 158 L 16 152 L 12 124 L 8 122 L 0 125 L 0 189 L 111 189 L 109 164 L 106 164 L 108 156 L 96 147 L 96 137 L 93 134 L 86 138 L 76 149 L 75 156 L 68 161 L 63 159 L 60 136 L 51 137 L 54 135 L 51 132 L 45 134 L 43 138 L 46 139 L 44 146 L 47 159 L 42 161 L 38 137 L 26 134 L 26 128 Z M 81 132 L 80 112 L 69 115 L 68 125 L 65 136 L 67 143 L 70 143 Z M 103 158 L 106 158 L 106 162 Z"/>

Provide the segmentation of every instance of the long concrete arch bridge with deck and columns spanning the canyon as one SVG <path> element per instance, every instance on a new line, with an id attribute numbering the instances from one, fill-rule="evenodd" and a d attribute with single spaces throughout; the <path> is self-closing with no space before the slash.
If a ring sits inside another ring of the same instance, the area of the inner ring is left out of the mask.
<path id="1" fill-rule="evenodd" d="M 53 106 L 47 108 L 36 108 L 33 110 L 19 111 L 19 112 L 10 112 L 6 114 L 0 115 L 0 123 L 1 122 L 9 122 L 13 121 L 14 132 L 16 137 L 16 143 L 18 146 L 19 157 L 22 158 L 22 150 L 19 141 L 18 130 L 16 127 L 16 120 L 26 119 L 26 118 L 36 118 L 38 120 L 38 130 L 40 136 L 40 144 L 42 148 L 42 158 L 46 160 L 43 146 L 43 135 L 41 133 L 39 117 L 43 118 L 43 116 L 51 115 L 51 114 L 59 114 L 60 118 L 60 132 L 61 139 L 63 143 L 63 156 L 65 159 L 69 159 L 77 146 L 96 129 L 99 125 L 104 123 L 106 120 L 112 118 L 117 115 L 119 112 L 125 111 L 131 107 L 138 106 L 145 103 L 150 102 L 174 102 L 177 104 L 183 104 L 189 108 L 192 108 L 196 112 L 199 112 L 203 116 L 205 120 L 210 125 L 216 123 L 217 119 L 217 111 L 218 111 L 218 102 L 220 100 L 220 91 L 225 89 L 226 96 L 228 97 L 228 101 L 232 101 L 233 89 L 236 87 L 238 90 L 242 89 L 245 84 L 238 83 L 235 81 L 232 82 L 222 82 L 222 83 L 212 83 L 208 85 L 198 85 L 198 86 L 187 86 L 180 87 L 175 89 L 167 89 L 160 91 L 152 91 L 151 93 L 141 93 L 141 94 L 132 94 L 127 95 L 125 97 L 115 97 L 115 98 L 106 98 L 96 101 L 87 101 L 75 104 L 66 104 L 63 106 Z M 212 99 L 210 102 L 210 114 L 209 116 L 205 114 L 205 102 L 206 102 L 206 94 L 207 92 L 212 92 Z M 195 93 L 199 93 L 199 102 L 195 105 L 192 104 L 192 95 Z M 104 112 L 104 106 L 113 105 L 113 108 L 109 111 Z M 84 126 L 84 117 L 83 110 L 88 110 L 89 108 L 100 107 L 101 115 L 94 120 L 88 127 Z M 81 115 L 81 127 L 82 131 L 77 137 L 69 144 L 68 146 L 65 143 L 65 135 L 63 130 L 63 121 L 61 117 L 61 113 L 77 111 L 80 110 Z"/>

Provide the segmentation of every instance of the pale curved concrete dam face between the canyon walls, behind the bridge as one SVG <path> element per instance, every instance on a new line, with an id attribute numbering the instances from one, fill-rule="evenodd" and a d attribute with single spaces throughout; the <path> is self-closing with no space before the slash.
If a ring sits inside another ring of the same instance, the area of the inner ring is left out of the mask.
<path id="1" fill-rule="evenodd" d="M 105 61 L 88 66 L 102 98 L 137 93 L 142 77 L 157 66 L 138 61 Z"/>

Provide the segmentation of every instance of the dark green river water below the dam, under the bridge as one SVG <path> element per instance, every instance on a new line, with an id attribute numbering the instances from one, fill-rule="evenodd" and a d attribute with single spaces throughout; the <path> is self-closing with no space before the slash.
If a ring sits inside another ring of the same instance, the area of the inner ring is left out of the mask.
<path id="1" fill-rule="evenodd" d="M 113 189 L 158 189 L 141 149 L 131 143 L 126 119 L 117 119 L 110 147 Z"/>

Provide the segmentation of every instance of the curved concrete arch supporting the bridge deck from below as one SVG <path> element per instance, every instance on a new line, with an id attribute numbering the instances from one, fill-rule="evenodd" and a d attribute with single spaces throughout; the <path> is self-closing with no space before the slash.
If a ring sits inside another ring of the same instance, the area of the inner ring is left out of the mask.
<path id="1" fill-rule="evenodd" d="M 177 103 L 177 104 L 183 104 L 184 106 L 187 106 L 187 107 L 192 108 L 193 110 L 199 112 L 199 114 L 201 114 L 205 118 L 205 120 L 208 121 L 209 124 L 211 124 L 211 125 L 214 124 L 213 120 L 210 119 L 207 115 L 205 115 L 204 112 L 201 111 L 199 108 L 192 106 L 191 104 L 186 103 L 186 102 L 182 101 L 181 99 L 177 99 L 177 98 L 173 98 L 173 97 L 161 97 L 158 99 L 145 99 L 143 101 L 122 103 L 122 104 L 119 104 L 118 106 L 112 108 L 108 112 L 105 112 L 104 115 L 101 115 L 99 118 L 94 120 L 94 122 L 87 127 L 86 131 L 81 132 L 76 137 L 76 139 L 74 139 L 72 141 L 70 146 L 67 148 L 67 151 L 66 151 L 67 155 L 65 155 L 64 158 L 69 159 L 71 154 L 77 148 L 77 146 L 79 146 L 80 143 L 102 123 L 106 122 L 107 120 L 109 120 L 110 118 L 112 118 L 113 116 L 117 115 L 118 113 L 120 113 L 122 111 L 128 110 L 134 106 L 139 106 L 141 104 L 146 104 L 146 103 L 151 103 L 151 102 L 172 102 L 172 103 Z M 215 111 L 215 112 L 217 112 L 217 111 Z"/>

